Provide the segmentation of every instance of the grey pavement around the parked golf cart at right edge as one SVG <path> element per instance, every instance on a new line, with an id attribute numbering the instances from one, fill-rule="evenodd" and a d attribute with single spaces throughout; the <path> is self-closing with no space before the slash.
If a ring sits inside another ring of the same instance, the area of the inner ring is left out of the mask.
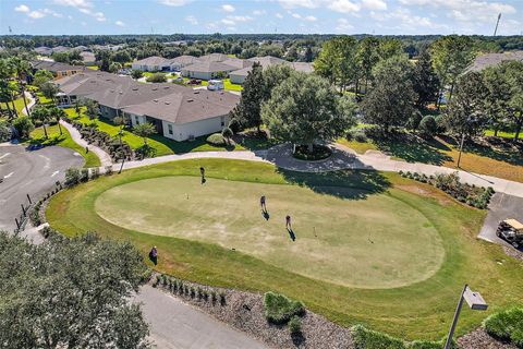
<path id="1" fill-rule="evenodd" d="M 523 197 L 512 196 L 504 193 L 496 193 L 488 205 L 487 218 L 483 224 L 479 238 L 510 246 L 504 240 L 496 236 L 499 221 L 508 218 L 515 218 L 523 221 Z"/>

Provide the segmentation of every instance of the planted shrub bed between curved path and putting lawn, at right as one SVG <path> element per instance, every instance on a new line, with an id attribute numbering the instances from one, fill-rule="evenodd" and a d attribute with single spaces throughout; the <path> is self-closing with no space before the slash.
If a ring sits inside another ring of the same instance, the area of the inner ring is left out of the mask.
<path id="1" fill-rule="evenodd" d="M 460 182 L 460 176 L 458 172 L 450 174 L 437 173 L 436 176 L 426 176 L 410 171 L 400 171 L 399 173 L 404 178 L 414 179 L 418 182 L 434 185 L 459 202 L 476 208 L 487 208 L 490 198 L 495 193 L 491 186 L 483 188 Z"/>

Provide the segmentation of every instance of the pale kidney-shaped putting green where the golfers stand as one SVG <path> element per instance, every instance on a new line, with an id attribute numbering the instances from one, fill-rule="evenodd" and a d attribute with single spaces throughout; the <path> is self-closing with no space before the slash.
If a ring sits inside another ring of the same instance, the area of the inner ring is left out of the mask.
<path id="1" fill-rule="evenodd" d="M 118 185 L 95 202 L 97 214 L 126 229 L 234 249 L 292 273 L 356 288 L 423 281 L 445 249 L 430 221 L 384 193 L 361 190 L 160 177 Z M 336 193 L 336 195 L 335 195 Z M 259 196 L 267 196 L 269 218 Z M 295 241 L 285 229 L 291 215 Z"/>

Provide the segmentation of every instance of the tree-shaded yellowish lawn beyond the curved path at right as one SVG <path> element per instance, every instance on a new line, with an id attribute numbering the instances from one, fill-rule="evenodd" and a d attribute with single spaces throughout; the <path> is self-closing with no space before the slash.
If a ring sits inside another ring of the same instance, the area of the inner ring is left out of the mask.
<path id="1" fill-rule="evenodd" d="M 419 139 L 416 142 L 374 142 L 372 140 L 357 142 L 345 139 L 337 142 L 358 154 L 365 154 L 367 151 L 381 151 L 393 159 L 450 168 L 457 168 L 459 157 L 458 144 L 447 136 L 437 136 L 427 142 L 422 142 Z M 523 182 L 523 157 L 516 151 L 506 152 L 490 146 L 469 145 L 464 147 L 460 168 L 475 173 Z"/>

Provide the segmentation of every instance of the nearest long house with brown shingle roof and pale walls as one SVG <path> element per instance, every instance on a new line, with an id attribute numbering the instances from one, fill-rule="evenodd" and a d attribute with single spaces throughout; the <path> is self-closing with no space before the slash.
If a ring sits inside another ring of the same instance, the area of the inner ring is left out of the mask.
<path id="1" fill-rule="evenodd" d="M 133 127 L 150 122 L 157 132 L 186 141 L 221 131 L 240 96 L 177 84 L 141 84 L 129 76 L 86 72 L 57 81 L 61 106 L 77 98 L 96 100 L 102 118 L 124 117 Z"/>

